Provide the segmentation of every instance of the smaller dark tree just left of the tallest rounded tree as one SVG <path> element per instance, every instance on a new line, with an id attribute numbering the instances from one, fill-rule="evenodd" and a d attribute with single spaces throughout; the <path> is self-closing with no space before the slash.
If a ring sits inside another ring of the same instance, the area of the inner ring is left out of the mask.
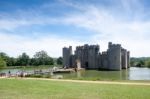
<path id="1" fill-rule="evenodd" d="M 29 65 L 30 57 L 26 53 L 22 53 L 17 59 L 17 65 L 27 66 Z"/>

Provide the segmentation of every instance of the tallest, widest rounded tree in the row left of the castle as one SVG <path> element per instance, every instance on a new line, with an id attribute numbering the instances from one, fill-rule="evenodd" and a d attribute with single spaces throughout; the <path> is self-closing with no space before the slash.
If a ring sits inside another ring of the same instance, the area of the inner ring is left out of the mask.
<path id="1" fill-rule="evenodd" d="M 34 58 L 32 59 L 34 65 L 53 65 L 54 61 L 48 56 L 46 51 L 36 52 Z"/>

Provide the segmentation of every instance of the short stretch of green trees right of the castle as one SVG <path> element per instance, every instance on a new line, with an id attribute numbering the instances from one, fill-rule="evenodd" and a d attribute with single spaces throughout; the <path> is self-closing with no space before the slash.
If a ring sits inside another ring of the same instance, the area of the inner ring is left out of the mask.
<path id="1" fill-rule="evenodd" d="M 150 57 L 132 57 L 130 59 L 130 65 L 134 67 L 149 67 L 150 68 Z"/>

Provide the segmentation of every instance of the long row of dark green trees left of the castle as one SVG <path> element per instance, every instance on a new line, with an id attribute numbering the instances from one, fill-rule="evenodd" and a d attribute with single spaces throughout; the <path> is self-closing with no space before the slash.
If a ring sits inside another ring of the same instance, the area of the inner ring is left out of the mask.
<path id="1" fill-rule="evenodd" d="M 62 65 L 62 57 L 54 59 L 43 50 L 36 52 L 32 58 L 26 53 L 22 53 L 17 58 L 14 58 L 4 52 L 0 52 L 0 67 L 54 65 L 55 63 Z"/>

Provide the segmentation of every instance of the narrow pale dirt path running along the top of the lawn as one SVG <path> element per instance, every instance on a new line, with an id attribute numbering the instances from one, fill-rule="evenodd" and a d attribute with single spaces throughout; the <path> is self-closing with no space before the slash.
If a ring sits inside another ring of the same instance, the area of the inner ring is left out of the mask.
<path id="1" fill-rule="evenodd" d="M 84 80 L 66 80 L 66 79 L 46 79 L 46 78 L 1 78 L 1 79 L 22 79 L 22 80 L 49 80 L 59 82 L 75 82 L 75 83 L 91 83 L 91 84 L 118 84 L 118 85 L 145 85 L 150 86 L 150 83 L 143 82 L 117 82 L 117 81 L 84 81 Z"/>

